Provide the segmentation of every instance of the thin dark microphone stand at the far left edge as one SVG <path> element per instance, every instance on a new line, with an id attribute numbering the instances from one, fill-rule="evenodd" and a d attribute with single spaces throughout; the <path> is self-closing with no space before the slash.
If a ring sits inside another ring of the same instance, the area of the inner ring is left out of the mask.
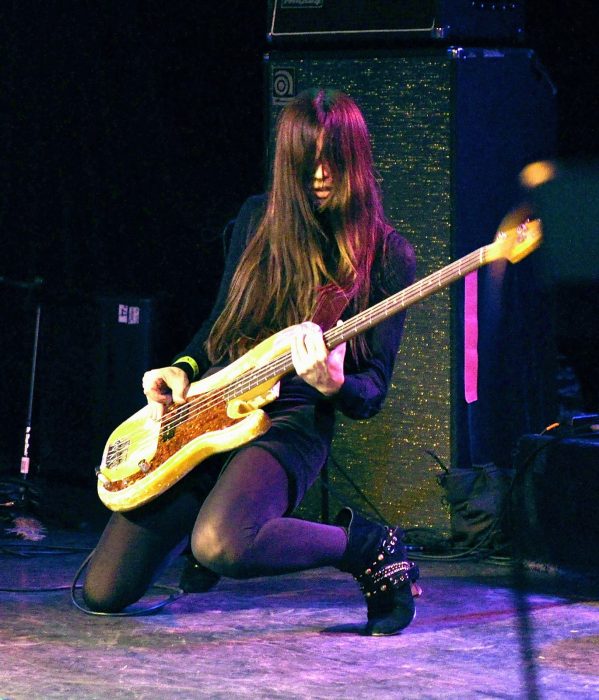
<path id="1" fill-rule="evenodd" d="M 0 284 L 17 289 L 25 289 L 31 296 L 42 286 L 44 280 L 41 277 L 34 277 L 30 282 L 21 280 L 12 280 L 0 276 Z M 35 375 L 37 369 L 37 355 L 39 347 L 40 335 L 40 319 L 42 314 L 42 305 L 39 294 L 36 295 L 35 302 L 35 322 L 33 334 L 33 348 L 31 357 L 31 369 L 29 373 L 29 396 L 27 401 L 27 419 L 25 423 L 25 436 L 23 442 L 23 455 L 21 457 L 20 478 L 8 479 L 6 486 L 10 490 L 13 489 L 6 503 L 0 504 L 8 508 L 14 508 L 16 511 L 13 518 L 14 527 L 7 530 L 19 537 L 28 540 L 41 540 L 45 537 L 45 528 L 34 517 L 28 515 L 28 511 L 32 503 L 36 501 L 35 488 L 28 482 L 29 468 L 31 464 L 30 446 L 33 424 L 33 400 L 35 394 Z M 14 489 L 16 486 L 16 494 Z M 3 490 L 3 489 L 2 489 Z M 6 497 L 6 496 L 5 496 Z"/>

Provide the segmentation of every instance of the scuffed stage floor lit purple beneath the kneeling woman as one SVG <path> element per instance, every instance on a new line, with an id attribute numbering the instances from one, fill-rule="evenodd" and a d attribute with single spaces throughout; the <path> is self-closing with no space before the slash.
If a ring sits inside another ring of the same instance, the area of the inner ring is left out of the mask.
<path id="1" fill-rule="evenodd" d="M 94 543 L 69 531 L 17 549 L 4 539 L 0 587 L 68 588 Z M 161 580 L 176 585 L 181 564 Z M 522 592 L 506 565 L 421 569 L 416 620 L 387 638 L 360 634 L 361 595 L 334 569 L 223 580 L 133 618 L 85 615 L 66 589 L 5 591 L 0 698 L 599 697 L 592 582 L 536 574 Z"/>

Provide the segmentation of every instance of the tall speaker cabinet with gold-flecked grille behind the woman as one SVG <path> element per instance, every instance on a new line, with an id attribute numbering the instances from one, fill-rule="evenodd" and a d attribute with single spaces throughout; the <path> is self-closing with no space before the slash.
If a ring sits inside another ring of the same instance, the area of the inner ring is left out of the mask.
<path id="1" fill-rule="evenodd" d="M 273 51 L 265 70 L 267 162 L 277 116 L 302 90 L 340 89 L 358 103 L 385 211 L 415 247 L 418 278 L 491 242 L 520 200 L 521 169 L 553 153 L 552 85 L 528 49 Z M 334 460 L 388 520 L 448 529 L 430 453 L 452 469 L 507 469 L 518 437 L 553 417 L 535 274 L 534 255 L 479 271 L 476 400 L 464 394 L 460 282 L 408 311 L 381 413 L 361 422 L 339 416 Z M 331 510 L 343 500 L 363 505 L 329 472 Z M 319 511 L 316 487 L 300 515 Z"/>

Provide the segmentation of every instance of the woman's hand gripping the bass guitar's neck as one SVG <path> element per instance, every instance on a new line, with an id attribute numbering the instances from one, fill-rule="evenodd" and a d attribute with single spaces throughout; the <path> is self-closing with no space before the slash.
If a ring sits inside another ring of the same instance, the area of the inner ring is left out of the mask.
<path id="1" fill-rule="evenodd" d="M 346 343 L 341 343 L 329 352 L 320 326 L 309 321 L 300 324 L 291 339 L 291 359 L 297 375 L 325 396 L 336 394 L 345 380 L 345 349 Z"/>

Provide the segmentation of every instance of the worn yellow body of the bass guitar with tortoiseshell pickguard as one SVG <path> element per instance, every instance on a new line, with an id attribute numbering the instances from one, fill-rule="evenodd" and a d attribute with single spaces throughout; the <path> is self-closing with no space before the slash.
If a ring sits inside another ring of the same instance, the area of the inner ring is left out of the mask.
<path id="1" fill-rule="evenodd" d="M 148 407 L 110 435 L 98 470 L 98 495 L 110 510 L 127 511 L 153 500 L 197 464 L 265 433 L 270 420 L 261 406 L 278 395 L 278 378 L 243 391 L 244 377 L 290 349 L 293 327 L 264 340 L 224 369 L 193 382 L 183 406 L 171 405 L 160 421 Z M 227 389 L 241 393 L 228 398 Z"/>

